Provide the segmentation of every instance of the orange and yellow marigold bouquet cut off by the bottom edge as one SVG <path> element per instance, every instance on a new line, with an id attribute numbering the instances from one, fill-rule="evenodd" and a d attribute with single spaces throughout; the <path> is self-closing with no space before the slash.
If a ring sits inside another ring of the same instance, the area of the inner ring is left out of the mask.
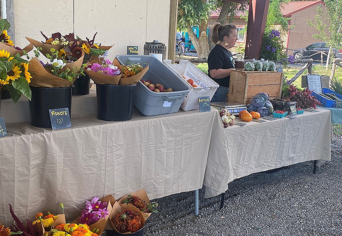
<path id="1" fill-rule="evenodd" d="M 94 230 L 96 231 L 96 230 Z M 51 230 L 52 236 L 98 236 L 87 224 L 60 224 Z"/>

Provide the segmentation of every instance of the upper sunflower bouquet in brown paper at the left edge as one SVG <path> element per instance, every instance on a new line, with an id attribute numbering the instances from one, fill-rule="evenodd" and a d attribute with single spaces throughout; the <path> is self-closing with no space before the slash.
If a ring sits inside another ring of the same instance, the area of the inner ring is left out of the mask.
<path id="1" fill-rule="evenodd" d="M 14 46 L 13 41 L 10 39 L 11 37 L 7 34 L 7 30 L 10 27 L 11 25 L 6 19 L 0 19 L 0 50 L 5 50 L 12 55 L 19 53 L 20 56 L 23 56 L 25 52 L 27 53 L 31 51 L 33 49 L 33 45 L 31 43 L 23 49 Z"/>

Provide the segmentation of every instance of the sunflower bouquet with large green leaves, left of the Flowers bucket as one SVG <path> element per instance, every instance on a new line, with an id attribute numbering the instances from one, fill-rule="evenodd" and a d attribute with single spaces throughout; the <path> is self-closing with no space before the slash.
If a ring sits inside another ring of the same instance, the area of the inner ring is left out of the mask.
<path id="1" fill-rule="evenodd" d="M 31 100 L 31 79 L 27 60 L 22 59 L 19 54 L 11 55 L 5 50 L 0 51 L 0 89 L 8 90 L 14 102 L 22 94 Z"/>

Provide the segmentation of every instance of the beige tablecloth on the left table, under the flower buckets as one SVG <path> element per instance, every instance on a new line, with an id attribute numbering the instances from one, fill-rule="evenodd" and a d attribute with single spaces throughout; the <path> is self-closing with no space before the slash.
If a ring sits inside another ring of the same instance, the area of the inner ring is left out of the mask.
<path id="1" fill-rule="evenodd" d="M 18 106 L 28 109 L 23 102 Z M 17 108 L 3 104 L 5 117 L 9 107 Z M 130 121 L 106 122 L 96 117 L 94 92 L 74 96 L 72 109 L 72 128 L 60 130 L 5 118 L 9 135 L 0 139 L 1 223 L 13 222 L 8 204 L 19 219 L 34 220 L 37 212 L 60 213 L 58 204 L 64 203 L 66 218 L 73 220 L 94 196 L 118 199 L 145 188 L 154 199 L 202 188 L 213 126 L 222 127 L 217 110 L 158 116 L 134 110 Z M 218 145 L 223 149 L 224 140 Z"/>

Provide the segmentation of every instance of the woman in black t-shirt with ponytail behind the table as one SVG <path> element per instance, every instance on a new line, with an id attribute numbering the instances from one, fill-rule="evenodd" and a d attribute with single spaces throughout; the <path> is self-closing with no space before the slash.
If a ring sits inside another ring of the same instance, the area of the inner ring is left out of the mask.
<path id="1" fill-rule="evenodd" d="M 211 102 L 225 101 L 227 98 L 231 71 L 235 68 L 235 59 L 228 49 L 234 47 L 237 40 L 235 25 L 214 25 L 211 42 L 216 45 L 208 56 L 208 74 L 220 86 Z"/>

